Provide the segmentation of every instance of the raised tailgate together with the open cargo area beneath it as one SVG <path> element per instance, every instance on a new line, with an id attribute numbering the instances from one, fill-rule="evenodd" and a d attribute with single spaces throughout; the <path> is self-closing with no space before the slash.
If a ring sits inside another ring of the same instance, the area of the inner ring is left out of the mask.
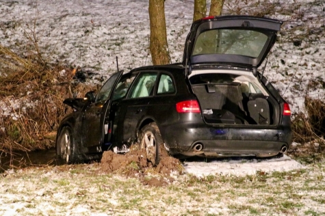
<path id="1" fill-rule="evenodd" d="M 257 68 L 281 25 L 253 16 L 212 16 L 192 24 L 183 64 L 205 122 L 278 124 L 279 105 L 259 81 Z"/>

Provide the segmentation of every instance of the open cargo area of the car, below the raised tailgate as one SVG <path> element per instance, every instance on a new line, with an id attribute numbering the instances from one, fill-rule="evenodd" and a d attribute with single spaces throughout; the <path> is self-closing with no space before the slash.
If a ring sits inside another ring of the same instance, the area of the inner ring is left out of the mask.
<path id="1" fill-rule="evenodd" d="M 205 74 L 191 77 L 192 90 L 208 124 L 276 124 L 276 103 L 255 77 Z"/>

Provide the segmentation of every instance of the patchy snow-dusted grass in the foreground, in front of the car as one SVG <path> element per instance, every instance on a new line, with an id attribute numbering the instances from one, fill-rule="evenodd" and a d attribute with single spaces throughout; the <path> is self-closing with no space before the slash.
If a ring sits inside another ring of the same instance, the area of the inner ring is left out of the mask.
<path id="1" fill-rule="evenodd" d="M 0 213 L 17 215 L 322 215 L 325 166 L 250 176 L 181 174 L 161 187 L 101 172 L 98 163 L 3 174 Z"/>

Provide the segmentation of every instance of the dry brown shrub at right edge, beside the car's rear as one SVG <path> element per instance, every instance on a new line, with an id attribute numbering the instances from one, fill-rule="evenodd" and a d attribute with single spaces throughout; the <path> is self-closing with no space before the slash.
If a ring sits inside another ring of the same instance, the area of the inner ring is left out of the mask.
<path id="1" fill-rule="evenodd" d="M 292 121 L 294 141 L 298 143 L 317 141 L 322 147 L 325 145 L 325 103 L 321 99 L 306 97 L 304 105 L 307 115 L 297 113 Z"/>

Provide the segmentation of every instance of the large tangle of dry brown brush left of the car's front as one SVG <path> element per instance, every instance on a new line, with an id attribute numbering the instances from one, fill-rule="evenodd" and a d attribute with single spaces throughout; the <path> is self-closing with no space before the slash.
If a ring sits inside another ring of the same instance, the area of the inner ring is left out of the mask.
<path id="1" fill-rule="evenodd" d="M 53 147 L 55 130 L 70 111 L 62 101 L 93 87 L 76 82 L 75 69 L 45 63 L 39 54 L 20 57 L 0 45 L 0 62 L 0 100 L 7 109 L 0 112 L 0 150 Z"/>

